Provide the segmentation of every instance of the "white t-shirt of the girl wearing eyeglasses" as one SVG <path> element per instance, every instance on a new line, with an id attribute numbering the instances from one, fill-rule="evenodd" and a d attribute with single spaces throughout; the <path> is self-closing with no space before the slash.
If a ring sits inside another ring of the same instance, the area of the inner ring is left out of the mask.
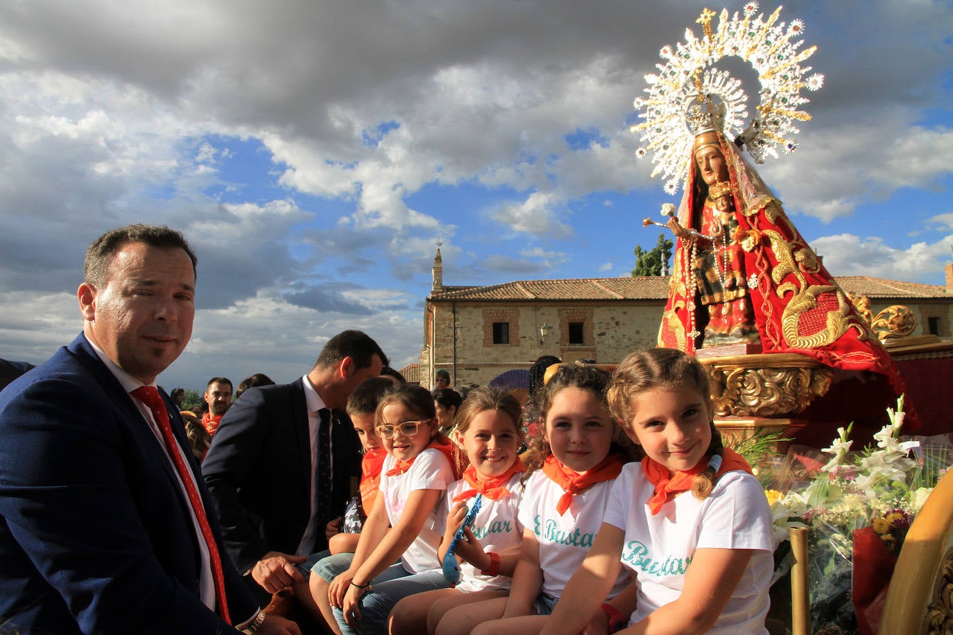
<path id="1" fill-rule="evenodd" d="M 395 458 L 388 454 L 380 472 L 380 495 L 384 497 L 387 518 L 391 521 L 391 526 L 395 526 L 400 520 L 400 514 L 403 513 L 404 505 L 412 491 L 446 489 L 454 482 L 454 470 L 447 461 L 447 457 L 432 447 L 417 454 L 414 465 L 403 474 L 388 476 L 387 472 L 394 468 L 395 463 Z M 434 508 L 427 514 L 427 520 L 424 521 L 420 533 L 400 556 L 404 568 L 412 573 L 420 573 L 440 566 L 436 558 L 436 547 L 440 544 L 443 528 L 447 523 L 446 514 L 438 513 L 442 498 L 442 496 L 437 498 Z"/>

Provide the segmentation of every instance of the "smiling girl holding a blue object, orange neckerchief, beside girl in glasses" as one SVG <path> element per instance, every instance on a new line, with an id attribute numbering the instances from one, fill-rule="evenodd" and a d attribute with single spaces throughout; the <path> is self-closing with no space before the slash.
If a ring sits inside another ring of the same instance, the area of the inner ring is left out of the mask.
<path id="1" fill-rule="evenodd" d="M 404 598 L 394 608 L 391 635 L 436 631 L 437 624 L 455 606 L 505 598 L 519 558 L 523 526 L 517 508 L 525 466 L 517 454 L 520 407 L 516 397 L 498 388 L 470 391 L 456 417 L 454 440 L 470 466 L 463 478 L 447 490 L 449 515 L 440 544 L 444 559 L 468 506 L 480 497 L 473 529 L 464 529 L 456 550 L 461 561 L 460 582 Z"/>

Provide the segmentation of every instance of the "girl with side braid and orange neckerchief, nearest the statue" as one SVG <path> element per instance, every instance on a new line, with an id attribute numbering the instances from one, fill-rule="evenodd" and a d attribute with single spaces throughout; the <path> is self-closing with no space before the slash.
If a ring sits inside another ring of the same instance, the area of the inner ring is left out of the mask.
<path id="1" fill-rule="evenodd" d="M 622 469 L 543 633 L 578 633 L 623 565 L 639 594 L 622 632 L 767 633 L 771 511 L 747 463 L 721 446 L 704 367 L 670 348 L 633 353 L 609 403 L 646 457 Z"/>

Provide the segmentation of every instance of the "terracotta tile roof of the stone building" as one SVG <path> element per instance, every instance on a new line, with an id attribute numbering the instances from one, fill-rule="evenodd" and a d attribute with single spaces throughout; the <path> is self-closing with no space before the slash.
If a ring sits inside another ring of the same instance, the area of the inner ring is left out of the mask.
<path id="1" fill-rule="evenodd" d="M 668 297 L 668 276 L 577 278 L 567 280 L 517 280 L 489 287 L 444 287 L 430 300 L 453 301 L 569 301 L 659 300 Z M 873 298 L 950 298 L 953 293 L 938 285 L 883 280 L 868 276 L 841 276 L 838 283 L 848 293 Z"/>

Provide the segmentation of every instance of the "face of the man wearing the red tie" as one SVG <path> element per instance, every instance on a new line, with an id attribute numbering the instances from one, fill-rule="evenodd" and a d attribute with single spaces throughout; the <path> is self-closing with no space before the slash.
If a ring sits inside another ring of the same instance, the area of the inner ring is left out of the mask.
<path id="1" fill-rule="evenodd" d="M 192 337 L 195 274 L 179 248 L 126 243 L 112 257 L 105 287 L 77 290 L 83 332 L 117 366 L 144 384 Z"/>

